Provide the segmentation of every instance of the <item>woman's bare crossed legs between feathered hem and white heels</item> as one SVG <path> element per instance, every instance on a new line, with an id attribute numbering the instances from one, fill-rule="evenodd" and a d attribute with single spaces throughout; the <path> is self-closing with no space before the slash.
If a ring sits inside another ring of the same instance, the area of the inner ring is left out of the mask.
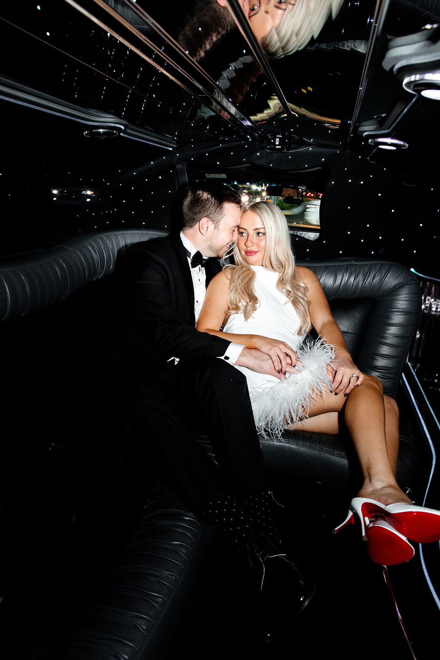
<path id="1" fill-rule="evenodd" d="M 348 397 L 327 393 L 309 410 L 309 416 L 293 428 L 334 433 L 335 414 L 345 403 L 344 416 L 363 473 L 360 497 L 383 504 L 410 502 L 399 488 L 395 475 L 398 455 L 398 409 L 383 395 L 381 383 L 365 376 Z M 337 432 L 337 431 L 336 431 Z"/>

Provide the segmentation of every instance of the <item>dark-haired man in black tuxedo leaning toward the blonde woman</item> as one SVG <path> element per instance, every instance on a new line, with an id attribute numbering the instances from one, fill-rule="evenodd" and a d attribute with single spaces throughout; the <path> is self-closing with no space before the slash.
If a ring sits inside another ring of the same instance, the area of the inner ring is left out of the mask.
<path id="1" fill-rule="evenodd" d="M 263 564 L 267 570 L 269 555 L 281 554 L 280 539 L 246 380 L 230 364 L 280 379 L 290 367 L 285 362 L 278 374 L 259 350 L 195 328 L 208 281 L 220 269 L 217 259 L 236 240 L 240 205 L 226 185 L 191 187 L 180 234 L 127 251 L 123 296 L 137 362 L 129 414 L 137 442 L 150 438 L 148 453 L 168 485 L 202 520 L 216 524 L 254 570 Z M 195 438 L 200 429 L 215 460 Z M 291 575 L 281 579 L 292 581 L 300 610 L 311 589 L 293 564 L 282 564 Z"/>

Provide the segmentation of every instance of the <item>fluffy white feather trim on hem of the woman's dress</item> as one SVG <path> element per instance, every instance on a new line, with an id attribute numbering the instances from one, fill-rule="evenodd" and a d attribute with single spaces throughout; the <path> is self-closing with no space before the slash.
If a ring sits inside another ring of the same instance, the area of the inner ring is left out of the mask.
<path id="1" fill-rule="evenodd" d="M 309 408 L 332 383 L 327 364 L 334 358 L 334 347 L 321 339 L 305 342 L 297 351 L 301 365 L 286 380 L 250 391 L 257 430 L 267 437 L 279 438 L 286 424 L 296 424 L 308 416 Z"/>

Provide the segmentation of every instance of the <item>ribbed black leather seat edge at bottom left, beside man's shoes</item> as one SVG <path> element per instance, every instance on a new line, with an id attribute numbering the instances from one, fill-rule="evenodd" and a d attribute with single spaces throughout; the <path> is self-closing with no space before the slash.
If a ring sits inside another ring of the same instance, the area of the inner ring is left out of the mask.
<path id="1" fill-rule="evenodd" d="M 189 595 L 206 579 L 213 535 L 166 488 L 156 488 L 98 597 L 50 660 L 172 657 Z"/>

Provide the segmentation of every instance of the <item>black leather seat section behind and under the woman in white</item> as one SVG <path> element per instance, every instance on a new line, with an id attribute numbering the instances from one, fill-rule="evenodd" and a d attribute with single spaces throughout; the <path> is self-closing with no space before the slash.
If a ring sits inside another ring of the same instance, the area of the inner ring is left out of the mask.
<path id="1" fill-rule="evenodd" d="M 396 399 L 421 309 L 420 286 L 414 275 L 396 263 L 364 259 L 300 265 L 319 277 L 360 370 L 379 378 L 384 393 Z M 281 440 L 262 438 L 261 444 L 272 473 L 294 482 L 325 483 L 336 490 L 359 485 L 358 461 L 346 433 L 285 431 Z M 417 459 L 417 447 L 402 422 L 397 475 L 402 486 L 412 483 Z"/>

